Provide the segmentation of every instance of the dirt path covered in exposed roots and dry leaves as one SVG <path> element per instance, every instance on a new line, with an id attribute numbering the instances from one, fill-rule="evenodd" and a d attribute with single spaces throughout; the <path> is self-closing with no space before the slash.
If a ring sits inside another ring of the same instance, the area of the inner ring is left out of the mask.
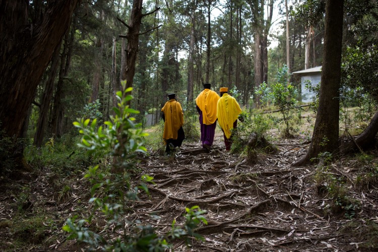
<path id="1" fill-rule="evenodd" d="M 220 136 L 211 153 L 198 143 L 184 144 L 175 157 L 152 155 L 141 168 L 156 185 L 150 186 L 151 197 L 136 206 L 135 215 L 164 233 L 173 220 L 177 225 L 184 222 L 185 207 L 207 210 L 209 224 L 197 229 L 205 241 L 194 241 L 195 251 L 356 250 L 361 234 L 350 230 L 364 224 L 363 211 L 353 225 L 343 215 L 327 212 L 332 199 L 318 196 L 311 176 L 314 167 L 290 167 L 306 146 L 298 141 L 276 144 L 279 153 L 260 155 L 253 166 L 222 151 Z M 356 199 L 361 197 L 357 194 Z M 376 211 L 376 198 L 364 202 L 363 207 Z M 146 213 L 161 219 L 148 219 Z M 178 243 L 175 250 L 188 248 Z"/>

